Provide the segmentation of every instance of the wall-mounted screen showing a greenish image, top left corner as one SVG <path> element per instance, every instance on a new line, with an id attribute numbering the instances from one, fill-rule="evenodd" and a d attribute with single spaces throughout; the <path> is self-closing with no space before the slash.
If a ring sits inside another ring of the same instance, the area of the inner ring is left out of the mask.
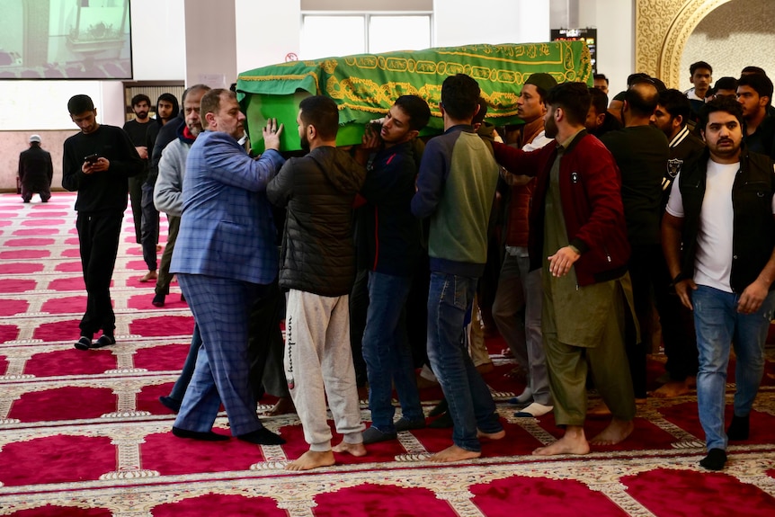
<path id="1" fill-rule="evenodd" d="M 131 79 L 129 0 L 0 0 L 0 79 Z"/>

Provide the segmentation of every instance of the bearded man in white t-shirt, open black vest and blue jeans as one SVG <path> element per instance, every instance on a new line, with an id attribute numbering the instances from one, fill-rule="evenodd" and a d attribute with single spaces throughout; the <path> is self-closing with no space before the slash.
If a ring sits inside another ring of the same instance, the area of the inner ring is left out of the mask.
<path id="1" fill-rule="evenodd" d="M 748 439 L 764 370 L 775 294 L 775 172 L 769 156 L 742 147 L 743 111 L 720 98 L 700 112 L 708 148 L 675 179 L 662 222 L 664 256 L 681 302 L 694 311 L 697 401 L 710 470 L 726 465 L 726 443 Z M 681 243 L 683 249 L 681 249 Z M 726 368 L 735 344 L 735 414 L 724 432 Z"/>

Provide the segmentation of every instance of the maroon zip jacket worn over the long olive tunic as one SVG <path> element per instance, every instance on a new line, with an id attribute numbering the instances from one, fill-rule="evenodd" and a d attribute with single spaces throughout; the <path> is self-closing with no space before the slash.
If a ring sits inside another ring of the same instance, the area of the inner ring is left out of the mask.
<path id="1" fill-rule="evenodd" d="M 539 269 L 543 256 L 544 212 L 549 173 L 557 145 L 525 152 L 493 144 L 495 160 L 514 174 L 536 174 L 530 203 L 530 269 Z M 568 242 L 581 257 L 574 264 L 579 286 L 619 278 L 627 271 L 629 243 L 621 202 L 621 176 L 613 156 L 601 141 L 582 130 L 560 161 L 560 198 Z M 554 253 L 554 252 L 552 252 Z"/>

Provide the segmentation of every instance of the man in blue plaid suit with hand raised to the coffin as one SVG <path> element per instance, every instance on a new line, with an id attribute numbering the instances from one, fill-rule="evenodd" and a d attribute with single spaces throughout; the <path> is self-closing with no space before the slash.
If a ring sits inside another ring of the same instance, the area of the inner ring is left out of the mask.
<path id="1" fill-rule="evenodd" d="M 282 126 L 268 121 L 267 150 L 253 160 L 237 141 L 245 115 L 234 93 L 210 90 L 202 97 L 200 116 L 206 131 L 186 161 L 183 215 L 170 272 L 177 273 L 203 343 L 173 433 L 227 440 L 212 431 L 223 403 L 233 435 L 277 445 L 285 441 L 264 428 L 256 414 L 247 343 L 250 308 L 278 272 L 265 189 L 285 161 L 278 152 Z"/>

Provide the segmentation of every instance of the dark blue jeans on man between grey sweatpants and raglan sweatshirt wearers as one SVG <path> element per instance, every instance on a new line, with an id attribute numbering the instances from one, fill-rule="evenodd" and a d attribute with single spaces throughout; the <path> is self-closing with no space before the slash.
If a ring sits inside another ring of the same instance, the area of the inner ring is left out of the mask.
<path id="1" fill-rule="evenodd" d="M 369 376 L 371 424 L 381 432 L 396 432 L 393 382 L 403 416 L 412 421 L 424 419 L 406 337 L 404 305 L 411 288 L 412 277 L 369 272 L 369 309 L 362 350 Z"/>

